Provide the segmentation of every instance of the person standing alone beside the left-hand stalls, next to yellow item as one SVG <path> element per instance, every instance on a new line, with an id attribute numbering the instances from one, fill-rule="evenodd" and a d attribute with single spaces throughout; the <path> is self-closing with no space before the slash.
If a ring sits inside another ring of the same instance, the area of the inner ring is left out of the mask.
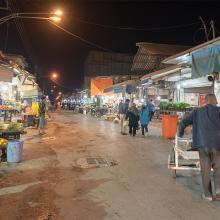
<path id="1" fill-rule="evenodd" d="M 41 102 L 39 103 L 39 135 L 46 134 L 44 129 L 46 125 L 46 111 L 47 111 L 47 104 L 46 104 L 46 96 L 41 97 Z"/>

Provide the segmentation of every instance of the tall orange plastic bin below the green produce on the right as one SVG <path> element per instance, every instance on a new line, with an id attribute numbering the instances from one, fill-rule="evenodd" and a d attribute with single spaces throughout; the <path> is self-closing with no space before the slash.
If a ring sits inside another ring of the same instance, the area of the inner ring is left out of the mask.
<path id="1" fill-rule="evenodd" d="M 178 124 L 177 115 L 162 115 L 162 134 L 163 138 L 172 139 L 176 136 Z"/>

